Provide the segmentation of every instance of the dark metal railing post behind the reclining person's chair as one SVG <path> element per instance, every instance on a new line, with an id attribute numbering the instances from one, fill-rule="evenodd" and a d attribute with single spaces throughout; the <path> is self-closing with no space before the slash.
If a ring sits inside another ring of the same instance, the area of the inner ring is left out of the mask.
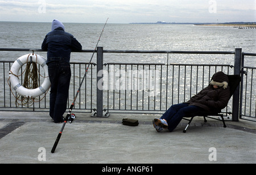
<path id="1" fill-rule="evenodd" d="M 241 59 L 242 48 L 236 48 L 234 56 L 234 74 L 241 75 Z M 240 102 L 240 85 L 238 85 L 236 91 L 233 94 L 233 106 L 232 106 L 232 120 L 238 121 L 239 118 L 239 102 Z"/>

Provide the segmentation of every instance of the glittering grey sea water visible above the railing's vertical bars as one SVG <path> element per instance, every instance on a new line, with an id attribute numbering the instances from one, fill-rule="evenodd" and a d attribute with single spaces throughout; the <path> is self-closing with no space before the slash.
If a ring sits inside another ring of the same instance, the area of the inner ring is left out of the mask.
<path id="1" fill-rule="evenodd" d="M 64 23 L 65 31 L 94 49 L 104 24 Z M 51 23 L 0 22 L 0 48 L 40 49 Z M 106 50 L 142 51 L 234 51 L 256 53 L 256 30 L 193 24 L 107 24 L 98 44 Z M 24 52 L 1 52 L 1 61 L 15 61 Z M 46 52 L 40 55 L 46 57 Z M 92 53 L 72 53 L 71 61 L 88 62 Z M 233 56 L 172 55 L 168 63 L 233 64 Z M 255 61 L 254 59 L 251 61 Z M 249 61 L 249 64 L 253 62 Z M 104 62 L 167 63 L 161 54 L 106 54 Z M 255 62 L 254 62 L 255 63 Z"/>

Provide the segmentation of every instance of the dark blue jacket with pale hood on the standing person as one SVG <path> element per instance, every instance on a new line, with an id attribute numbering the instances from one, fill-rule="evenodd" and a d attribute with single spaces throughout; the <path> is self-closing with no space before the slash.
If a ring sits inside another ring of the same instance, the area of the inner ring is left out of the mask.
<path id="1" fill-rule="evenodd" d="M 47 51 L 47 64 L 52 61 L 70 61 L 72 51 L 81 51 L 82 46 L 73 35 L 65 32 L 63 23 L 54 19 L 52 31 L 46 35 L 42 49 Z"/>

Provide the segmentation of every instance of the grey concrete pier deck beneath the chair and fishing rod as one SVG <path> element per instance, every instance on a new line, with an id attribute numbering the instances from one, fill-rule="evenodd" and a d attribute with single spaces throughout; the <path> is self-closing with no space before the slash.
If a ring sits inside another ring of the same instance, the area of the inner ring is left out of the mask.
<path id="1" fill-rule="evenodd" d="M 220 121 L 196 117 L 187 133 L 186 120 L 174 132 L 156 132 L 152 119 L 160 115 L 90 115 L 76 113 L 51 153 L 63 124 L 53 123 L 48 113 L 0 111 L 0 163 L 256 163 L 255 122 L 227 121 L 224 128 Z M 123 118 L 138 119 L 139 126 L 124 126 Z"/>

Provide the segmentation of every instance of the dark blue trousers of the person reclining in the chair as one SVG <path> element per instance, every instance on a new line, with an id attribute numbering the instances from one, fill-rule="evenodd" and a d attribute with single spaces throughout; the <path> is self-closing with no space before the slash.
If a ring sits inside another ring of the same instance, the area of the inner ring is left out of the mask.
<path id="1" fill-rule="evenodd" d="M 199 110 L 202 110 L 201 107 L 188 106 L 188 103 L 180 103 L 172 105 L 166 113 L 161 116 L 161 119 L 166 119 L 168 123 L 168 130 L 172 132 L 184 116 L 192 113 L 196 114 Z"/>

